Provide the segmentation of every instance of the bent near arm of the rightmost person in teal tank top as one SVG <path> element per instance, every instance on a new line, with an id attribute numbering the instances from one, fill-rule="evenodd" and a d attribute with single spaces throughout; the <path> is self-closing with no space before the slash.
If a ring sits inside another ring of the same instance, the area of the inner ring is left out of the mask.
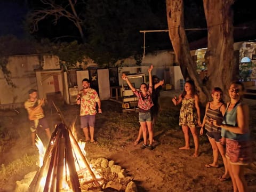
<path id="1" fill-rule="evenodd" d="M 218 124 L 217 121 L 212 120 L 213 124 L 221 127 L 221 129 L 228 130 L 237 134 L 244 134 L 249 132 L 249 107 L 247 105 L 239 105 L 237 107 L 237 126 L 231 126 L 226 124 Z"/>

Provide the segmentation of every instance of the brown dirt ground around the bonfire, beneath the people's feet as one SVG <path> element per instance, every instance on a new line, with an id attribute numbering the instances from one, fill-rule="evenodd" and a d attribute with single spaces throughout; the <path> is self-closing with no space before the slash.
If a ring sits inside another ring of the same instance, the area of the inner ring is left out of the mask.
<path id="1" fill-rule="evenodd" d="M 170 96 L 170 93 L 167 95 Z M 57 106 L 65 117 L 65 123 L 67 125 L 75 123 L 78 138 L 84 140 L 82 130 L 79 129 L 79 106 L 63 105 L 61 102 L 57 103 Z M 212 162 L 211 146 L 205 135 L 199 137 L 199 157 L 192 157 L 193 139 L 190 140 L 190 150 L 179 150 L 179 147 L 184 145 L 183 133 L 178 126 L 179 107 L 172 105 L 170 97 L 161 97 L 162 111 L 154 129 L 157 142 L 154 143 L 155 149 L 152 151 L 140 149 L 141 142 L 133 146 L 139 130 L 137 113 L 122 113 L 121 104 L 114 101 L 102 101 L 101 108 L 102 114 L 97 114 L 95 125 L 95 136 L 99 143 L 98 145 L 88 143 L 85 146 L 89 161 L 99 157 L 114 160 L 125 169 L 127 175 L 134 178 L 138 191 L 232 191 L 231 181 L 218 180 L 224 172 L 221 157 L 219 157 L 219 164 L 222 165 L 220 168 L 204 166 Z M 255 111 L 256 106 L 251 105 L 250 124 L 254 153 Z M 61 123 L 60 116 L 51 105 L 45 107 L 45 112 L 53 131 L 54 124 Z M 0 165 L 6 166 L 25 154 L 37 154 L 37 150 L 30 146 L 25 109 L 2 110 L 0 115 L 1 127 L 7 128 L 12 133 L 2 146 Z M 38 134 L 47 143 L 44 131 L 39 130 Z M 36 169 L 36 166 L 31 166 L 17 170 L 10 178 L 6 178 L 4 185 L 1 182 L 0 191 L 14 191 L 15 181 L 21 180 L 25 174 Z M 246 167 L 245 177 L 250 191 L 256 191 L 255 170 L 255 161 Z"/>

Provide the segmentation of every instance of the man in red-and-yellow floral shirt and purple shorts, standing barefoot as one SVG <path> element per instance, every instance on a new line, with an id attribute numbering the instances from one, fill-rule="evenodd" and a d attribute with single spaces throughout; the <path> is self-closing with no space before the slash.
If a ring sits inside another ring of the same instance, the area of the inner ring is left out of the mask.
<path id="1" fill-rule="evenodd" d="M 94 140 L 94 125 L 95 115 L 97 113 L 96 105 L 98 104 L 98 111 L 101 111 L 100 98 L 96 90 L 90 88 L 89 79 L 85 78 L 82 81 L 83 90 L 77 95 L 76 103 L 81 105 L 80 107 L 80 121 L 81 128 L 85 135 L 85 141 L 91 141 L 94 144 L 98 142 Z M 90 131 L 90 137 L 89 137 Z"/>

